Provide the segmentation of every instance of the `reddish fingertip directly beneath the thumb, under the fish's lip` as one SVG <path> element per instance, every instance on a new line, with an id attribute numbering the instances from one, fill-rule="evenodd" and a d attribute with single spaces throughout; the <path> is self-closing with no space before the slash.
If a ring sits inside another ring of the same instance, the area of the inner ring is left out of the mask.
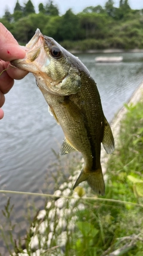
<path id="1" fill-rule="evenodd" d="M 20 70 L 19 68 L 15 68 L 10 64 L 8 65 L 7 68 L 8 68 L 7 70 L 8 76 L 10 76 L 12 79 L 16 79 L 16 80 L 23 79 L 23 77 L 25 77 L 28 74 L 27 71 Z"/>

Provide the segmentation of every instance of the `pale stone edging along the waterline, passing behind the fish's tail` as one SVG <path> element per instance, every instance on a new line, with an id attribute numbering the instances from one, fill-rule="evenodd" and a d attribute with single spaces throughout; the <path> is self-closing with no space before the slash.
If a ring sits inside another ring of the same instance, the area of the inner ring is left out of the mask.
<path id="1" fill-rule="evenodd" d="M 131 97 L 129 98 L 126 104 L 136 104 L 142 97 L 143 92 L 143 82 L 138 86 L 138 88 L 133 92 Z M 113 131 L 113 136 L 115 140 L 115 147 L 118 143 L 119 138 L 119 131 L 120 131 L 120 123 L 125 118 L 125 114 L 128 110 L 123 106 L 122 109 L 119 110 L 116 116 L 114 116 L 113 121 L 111 122 L 111 129 Z M 107 179 L 106 177 L 106 170 L 107 170 L 107 161 L 111 157 L 111 155 L 107 155 L 105 150 L 101 149 L 101 165 L 102 165 L 102 173 L 104 175 L 104 180 Z M 32 234 L 29 240 L 29 249 L 32 252 L 32 256 L 38 255 L 40 256 L 41 253 L 46 253 L 44 249 L 45 244 L 45 234 L 48 236 L 48 247 L 50 248 L 51 241 L 54 239 L 54 223 L 57 221 L 57 231 L 60 231 L 60 234 L 57 238 L 57 246 L 60 248 L 60 255 L 64 255 L 64 247 L 66 246 L 67 236 L 66 236 L 66 229 L 70 228 L 71 232 L 74 232 L 75 223 L 78 220 L 77 216 L 73 216 L 73 212 L 69 209 L 69 207 L 73 207 L 74 213 L 80 212 L 85 209 L 85 206 L 82 202 L 79 201 L 80 195 L 77 192 L 74 192 L 73 197 L 70 199 L 64 198 L 65 196 L 69 196 L 71 194 L 71 189 L 73 187 L 74 182 L 79 176 L 80 170 L 75 171 L 72 176 L 69 177 L 68 182 L 64 182 L 60 185 L 59 189 L 54 192 L 54 195 L 62 196 L 57 198 L 56 200 L 49 200 L 45 206 L 45 209 L 40 210 L 35 218 L 35 221 L 32 221 L 32 225 L 27 231 L 27 234 Z M 85 192 L 84 185 L 81 186 L 81 191 Z M 86 195 L 89 194 L 90 189 L 86 189 Z M 55 213 L 57 215 L 57 220 L 54 219 Z M 71 221 L 67 224 L 67 220 L 65 220 L 65 216 L 70 218 Z M 48 221 L 47 221 L 48 219 Z M 49 230 L 47 233 L 47 228 L 49 225 Z M 41 241 L 39 242 L 39 239 Z M 41 248 L 39 248 L 39 243 Z M 13 254 L 16 255 L 16 254 Z M 28 256 L 27 249 L 23 249 L 23 252 L 18 253 L 18 256 Z"/>

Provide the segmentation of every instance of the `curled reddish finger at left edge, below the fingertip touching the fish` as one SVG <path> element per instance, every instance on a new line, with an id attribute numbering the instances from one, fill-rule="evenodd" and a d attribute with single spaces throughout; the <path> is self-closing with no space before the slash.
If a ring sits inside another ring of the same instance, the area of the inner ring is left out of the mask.
<path id="1" fill-rule="evenodd" d="M 2 70 L 7 68 L 7 65 L 8 64 L 3 61 L 0 62 L 0 73 L 2 72 Z M 4 71 L 0 76 L 0 91 L 3 94 L 7 94 L 7 92 L 10 91 L 13 85 L 14 85 L 14 80 L 10 76 L 8 76 L 8 73 L 6 71 Z"/>

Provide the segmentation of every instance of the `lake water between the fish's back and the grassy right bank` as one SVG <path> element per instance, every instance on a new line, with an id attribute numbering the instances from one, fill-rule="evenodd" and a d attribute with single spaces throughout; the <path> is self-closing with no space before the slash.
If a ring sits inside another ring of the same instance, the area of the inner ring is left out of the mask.
<path id="1" fill-rule="evenodd" d="M 97 56 L 123 56 L 119 63 L 95 63 Z M 143 78 L 143 53 L 79 55 L 91 72 L 100 91 L 102 108 L 110 122 L 114 114 L 129 100 Z"/>

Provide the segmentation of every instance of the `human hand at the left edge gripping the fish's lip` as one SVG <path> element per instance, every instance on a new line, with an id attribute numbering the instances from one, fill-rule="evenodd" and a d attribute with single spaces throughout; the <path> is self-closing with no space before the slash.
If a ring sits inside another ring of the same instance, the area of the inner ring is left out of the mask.
<path id="1" fill-rule="evenodd" d="M 13 87 L 14 79 L 23 79 L 28 72 L 10 65 L 10 61 L 14 59 L 23 59 L 26 51 L 18 45 L 11 32 L 2 23 L 0 23 L 0 35 L 0 119 L 2 119 L 4 111 L 1 107 L 5 102 L 4 94 Z M 3 71 L 5 69 L 7 70 Z"/>

